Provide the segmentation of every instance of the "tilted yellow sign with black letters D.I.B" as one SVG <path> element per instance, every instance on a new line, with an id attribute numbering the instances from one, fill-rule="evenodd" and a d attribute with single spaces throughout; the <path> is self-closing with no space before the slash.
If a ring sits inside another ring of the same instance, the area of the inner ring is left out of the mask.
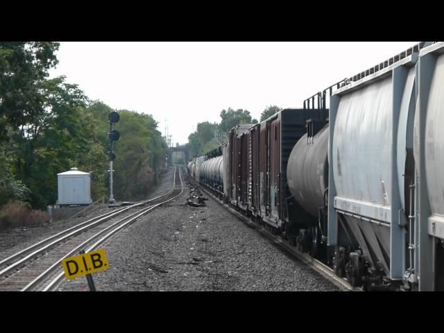
<path id="1" fill-rule="evenodd" d="M 68 280 L 87 274 L 98 273 L 110 268 L 105 250 L 95 250 L 62 260 L 62 267 Z"/>

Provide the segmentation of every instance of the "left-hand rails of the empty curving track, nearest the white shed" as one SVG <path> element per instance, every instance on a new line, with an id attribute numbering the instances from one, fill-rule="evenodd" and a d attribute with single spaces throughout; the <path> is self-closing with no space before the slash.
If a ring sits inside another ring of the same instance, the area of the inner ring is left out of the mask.
<path id="1" fill-rule="evenodd" d="M 0 271 L 0 278 L 3 278 L 5 275 L 10 273 L 10 271 L 20 268 L 26 262 L 30 261 L 34 257 L 37 257 L 38 255 L 41 255 L 42 253 L 46 252 L 46 250 L 49 250 L 51 246 L 56 246 L 56 244 L 60 244 L 63 241 L 67 241 L 70 237 L 77 236 L 78 234 L 81 234 L 91 228 L 94 228 L 97 225 L 105 221 L 108 221 L 119 214 L 123 214 L 124 212 L 130 210 L 131 208 L 138 207 L 140 205 L 146 205 L 147 203 L 151 203 L 154 200 L 157 200 L 164 196 L 168 196 L 174 191 L 175 186 L 176 186 L 176 167 L 174 169 L 173 186 L 171 187 L 171 189 L 169 189 L 169 191 L 167 191 L 166 194 L 162 194 L 160 196 L 156 196 L 155 198 L 151 198 L 149 200 L 143 200 L 140 201 L 139 203 L 135 203 L 134 205 L 122 207 L 118 210 L 114 210 L 112 212 L 96 216 L 85 222 L 79 223 L 78 225 L 74 225 L 71 228 L 63 230 L 62 232 L 58 232 L 58 234 L 54 234 L 51 237 L 43 239 L 42 241 L 39 241 L 36 244 L 33 244 L 32 246 L 29 246 L 28 248 L 25 248 L 24 250 L 21 250 L 18 253 L 15 253 L 14 255 L 7 257 L 6 259 L 3 259 L 2 261 L 0 261 L 0 267 L 6 265 L 8 266 L 6 266 Z"/>

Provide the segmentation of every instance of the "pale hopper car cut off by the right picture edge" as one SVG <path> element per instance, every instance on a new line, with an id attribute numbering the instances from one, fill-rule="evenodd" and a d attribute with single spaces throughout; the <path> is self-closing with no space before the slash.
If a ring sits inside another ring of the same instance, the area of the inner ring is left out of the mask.
<path id="1" fill-rule="evenodd" d="M 444 291 L 444 42 L 420 51 L 418 83 L 413 126 L 416 207 L 407 220 L 409 268 L 404 276 L 417 282 L 420 291 Z"/>

